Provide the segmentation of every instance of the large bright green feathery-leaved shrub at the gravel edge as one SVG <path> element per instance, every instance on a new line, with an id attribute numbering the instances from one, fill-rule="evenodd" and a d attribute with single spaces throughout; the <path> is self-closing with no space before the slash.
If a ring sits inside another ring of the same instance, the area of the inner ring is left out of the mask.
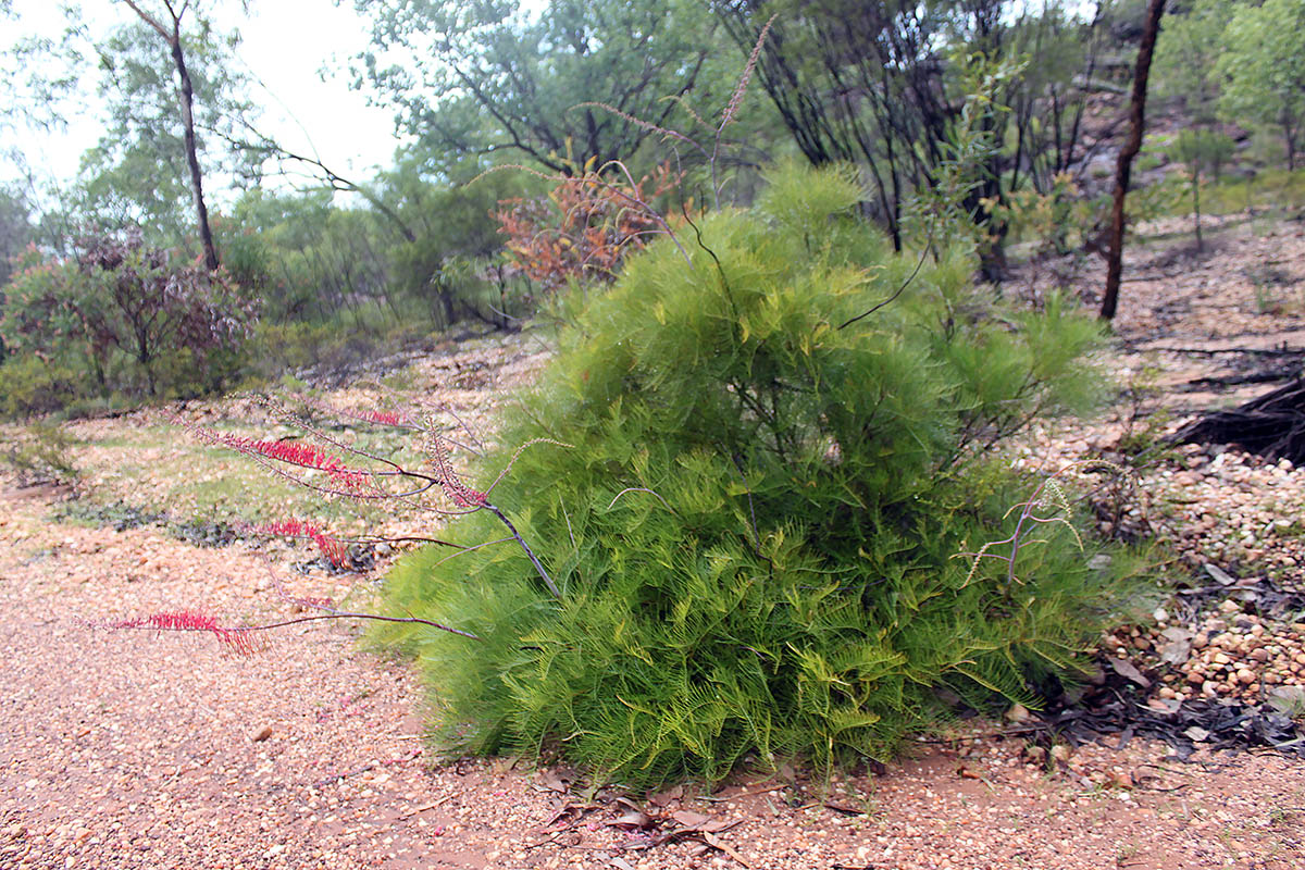
<path id="1" fill-rule="evenodd" d="M 681 230 L 692 267 L 659 241 L 582 307 L 478 470 L 572 445 L 530 447 L 495 490 L 561 596 L 510 544 L 423 550 L 388 580 L 392 613 L 483 638 L 378 635 L 419 656 L 446 747 L 714 780 L 746 755 L 883 758 L 941 686 L 1034 703 L 1031 680 L 1074 667 L 1109 590 L 1073 533 L 1044 527 L 1014 579 L 953 557 L 1009 533 L 1031 487 L 985 447 L 1091 398 L 1098 327 L 996 308 L 960 253 L 911 279 L 857 198 L 790 170 L 699 243 Z"/>

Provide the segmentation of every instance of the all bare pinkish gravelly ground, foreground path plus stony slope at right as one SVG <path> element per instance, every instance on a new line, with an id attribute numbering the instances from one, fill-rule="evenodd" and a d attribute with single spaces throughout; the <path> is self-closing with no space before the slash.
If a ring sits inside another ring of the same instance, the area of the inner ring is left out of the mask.
<path id="1" fill-rule="evenodd" d="M 1211 236 L 1212 256 L 1144 249 L 1129 263 L 1111 364 L 1121 381 L 1144 373 L 1159 391 L 1113 419 L 1043 433 L 1040 460 L 1117 440 L 1160 406 L 1176 425 L 1262 391 L 1219 382 L 1266 363 L 1223 351 L 1305 343 L 1297 226 L 1229 220 Z M 1088 270 L 1090 286 L 1099 270 Z M 1026 278 L 1028 288 L 1044 280 Z M 472 394 L 538 363 L 505 347 L 499 365 L 463 365 L 458 352 L 419 365 L 416 385 L 455 374 L 474 406 Z M 80 425 L 90 436 L 132 421 Z M 1295 588 L 1300 527 L 1262 520 L 1305 501 L 1305 472 L 1216 459 L 1148 472 L 1156 493 L 1202 493 L 1158 515 L 1158 533 L 1194 563 L 1218 560 L 1242 577 L 1276 565 L 1274 582 Z M 136 492 L 134 503 L 153 492 L 107 475 L 94 485 Z M 278 582 L 334 597 L 346 580 L 292 570 L 288 550 L 55 522 L 64 494 L 0 492 L 3 867 L 1305 867 L 1305 762 L 1274 751 L 1198 749 L 1180 762 L 1164 743 L 1112 738 L 1043 758 L 1010 723 L 971 720 L 885 771 L 829 783 L 740 772 L 714 793 L 589 794 L 565 770 L 517 759 L 432 766 L 411 668 L 359 651 L 347 623 L 295 626 L 253 656 L 224 655 L 206 637 L 97 627 L 177 609 L 271 618 L 286 614 Z M 1270 635 L 1289 625 L 1265 621 Z M 1197 686 L 1188 673 L 1158 687 Z M 1267 687 L 1267 670 L 1257 680 Z M 1240 691 L 1219 685 L 1211 697 Z"/>

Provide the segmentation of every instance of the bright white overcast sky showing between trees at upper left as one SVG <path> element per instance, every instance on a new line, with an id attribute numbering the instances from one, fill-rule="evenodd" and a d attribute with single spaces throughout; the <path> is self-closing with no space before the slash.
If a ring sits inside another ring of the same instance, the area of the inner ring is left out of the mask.
<path id="1" fill-rule="evenodd" d="M 134 17 L 112 0 L 84 0 L 81 5 L 99 34 Z M 390 163 L 399 145 L 393 112 L 369 107 L 361 93 L 348 89 L 347 61 L 367 48 L 369 34 L 368 22 L 351 3 L 341 8 L 331 0 L 251 0 L 248 16 L 239 4 L 226 5 L 231 9 L 217 21 L 240 31 L 238 55 L 266 87 L 248 95 L 262 107 L 261 132 L 291 150 L 316 151 L 326 166 L 354 180 Z M 5 22 L 5 44 L 23 34 L 54 37 L 63 30 L 63 16 L 51 0 L 16 0 L 14 9 L 17 27 Z M 326 81 L 320 72 L 324 67 L 330 68 Z M 89 108 L 70 117 L 61 132 L 23 136 L 22 150 L 40 176 L 67 181 L 77 173 L 82 151 L 103 132 L 94 98 Z M 0 180 L 14 175 L 10 166 L 0 163 Z"/>

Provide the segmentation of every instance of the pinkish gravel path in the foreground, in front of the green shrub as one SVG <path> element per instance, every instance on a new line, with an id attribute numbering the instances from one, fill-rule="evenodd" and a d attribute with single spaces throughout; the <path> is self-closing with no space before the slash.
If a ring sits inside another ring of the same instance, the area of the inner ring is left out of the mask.
<path id="1" fill-rule="evenodd" d="M 549 818 L 582 803 L 551 773 L 425 770 L 408 669 L 355 652 L 339 626 L 252 659 L 197 637 L 89 630 L 78 620 L 275 608 L 258 590 L 266 569 L 240 547 L 50 524 L 44 498 L 13 490 L 0 503 L 0 867 L 733 863 L 693 841 L 619 852 L 630 836 L 604 824 L 624 811 L 609 805 L 548 840 Z M 317 578 L 296 591 L 338 590 Z M 271 737 L 254 742 L 264 728 Z M 1047 775 L 1019 749 L 985 738 L 835 787 L 861 815 L 812 805 L 810 792 L 793 806 L 786 789 L 664 811 L 740 819 L 722 841 L 775 870 L 1305 867 L 1300 762 L 1235 755 L 1205 768 L 1139 743 L 1084 747 Z"/>

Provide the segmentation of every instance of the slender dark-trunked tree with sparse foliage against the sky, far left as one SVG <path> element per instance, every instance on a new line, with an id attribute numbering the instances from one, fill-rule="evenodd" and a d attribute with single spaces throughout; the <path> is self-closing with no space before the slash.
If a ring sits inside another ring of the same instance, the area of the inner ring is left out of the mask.
<path id="1" fill-rule="evenodd" d="M 205 179 L 231 170 L 223 130 L 252 106 L 235 63 L 235 34 L 211 21 L 218 0 L 110 0 L 63 7 L 61 33 L 29 33 L 4 56 L 22 73 L 0 123 L 59 129 L 102 108 L 106 132 L 87 149 L 61 207 L 82 223 L 137 226 L 176 244 L 193 227 L 205 265 L 218 266 Z M 104 26 L 106 16 L 111 26 Z M 30 29 L 29 29 L 30 30 Z M 9 70 L 0 70 L 9 72 Z M 98 97 L 98 99 L 97 99 Z M 185 218 L 189 211 L 192 218 Z"/>

